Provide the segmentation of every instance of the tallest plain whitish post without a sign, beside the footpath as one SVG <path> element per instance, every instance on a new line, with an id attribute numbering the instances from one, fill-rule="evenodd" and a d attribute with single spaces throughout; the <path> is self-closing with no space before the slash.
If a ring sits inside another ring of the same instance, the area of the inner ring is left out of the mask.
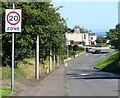
<path id="1" fill-rule="evenodd" d="M 39 79 L 39 36 L 36 43 L 36 79 Z"/>

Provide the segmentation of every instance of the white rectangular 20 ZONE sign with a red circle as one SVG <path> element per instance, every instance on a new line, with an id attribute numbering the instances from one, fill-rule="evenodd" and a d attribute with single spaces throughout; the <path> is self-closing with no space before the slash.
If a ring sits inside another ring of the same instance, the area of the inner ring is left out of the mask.
<path id="1" fill-rule="evenodd" d="M 6 9 L 5 32 L 21 32 L 21 9 Z"/>

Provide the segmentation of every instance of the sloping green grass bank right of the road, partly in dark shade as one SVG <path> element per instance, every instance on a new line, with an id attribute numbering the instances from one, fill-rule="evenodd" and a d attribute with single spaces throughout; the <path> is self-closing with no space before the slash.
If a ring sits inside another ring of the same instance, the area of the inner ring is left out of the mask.
<path id="1" fill-rule="evenodd" d="M 120 73 L 120 51 L 116 51 L 99 61 L 95 69 L 101 71 Z"/>

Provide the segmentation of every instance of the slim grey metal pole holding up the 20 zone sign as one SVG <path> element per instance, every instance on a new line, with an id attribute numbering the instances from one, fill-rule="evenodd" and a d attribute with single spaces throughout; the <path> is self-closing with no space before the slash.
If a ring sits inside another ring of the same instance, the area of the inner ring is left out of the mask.
<path id="1" fill-rule="evenodd" d="M 13 9 L 15 5 L 13 3 Z M 12 33 L 12 69 L 11 69 L 11 90 L 14 89 L 14 33 Z"/>

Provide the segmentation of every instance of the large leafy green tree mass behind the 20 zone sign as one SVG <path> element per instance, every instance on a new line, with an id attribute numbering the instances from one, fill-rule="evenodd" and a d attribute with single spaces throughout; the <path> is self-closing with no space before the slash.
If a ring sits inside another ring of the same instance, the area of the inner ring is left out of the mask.
<path id="1" fill-rule="evenodd" d="M 15 60 L 35 57 L 36 36 L 40 37 L 40 61 L 60 54 L 65 43 L 63 33 L 68 30 L 66 21 L 57 13 L 50 2 L 15 2 L 22 9 L 22 33 L 15 34 Z M 2 54 L 3 65 L 11 65 L 12 35 L 5 33 L 5 9 L 12 9 L 12 2 L 2 2 Z"/>

